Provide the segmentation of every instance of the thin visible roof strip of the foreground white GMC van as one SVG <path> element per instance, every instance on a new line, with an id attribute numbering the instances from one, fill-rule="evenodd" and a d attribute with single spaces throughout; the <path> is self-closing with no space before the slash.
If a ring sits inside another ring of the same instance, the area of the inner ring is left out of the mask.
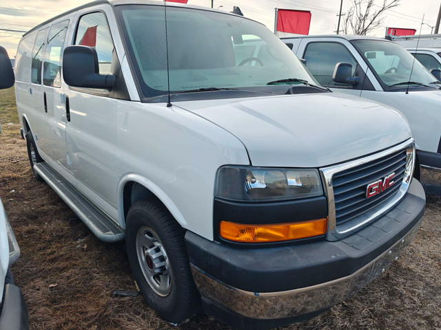
<path id="1" fill-rule="evenodd" d="M 71 10 L 68 10 L 67 12 L 63 12 L 62 14 L 59 14 L 55 17 L 52 17 L 52 19 L 48 19 L 46 21 L 44 21 L 43 23 L 37 25 L 36 27 L 32 28 L 31 30 L 29 30 L 28 32 L 26 32 L 25 34 L 23 34 L 23 37 L 27 36 L 28 34 L 34 32 L 35 30 L 38 30 L 39 28 L 41 28 L 43 25 L 46 25 L 56 19 L 59 19 L 67 14 L 70 14 L 72 12 L 76 12 L 78 10 L 84 9 L 84 8 L 89 8 L 92 7 L 94 5 L 99 5 L 101 3 L 107 3 L 110 4 L 112 6 L 116 6 L 116 5 L 163 5 L 163 1 L 152 1 L 152 0 L 96 0 L 96 1 L 92 1 L 90 3 L 85 3 L 84 5 L 80 5 L 79 7 L 73 8 Z M 183 4 L 183 3 L 175 3 L 175 2 L 167 2 L 167 7 L 184 7 L 184 8 L 194 8 L 194 9 L 201 9 L 201 10 L 207 10 L 210 12 L 221 12 L 223 14 L 230 14 L 233 16 L 238 16 L 237 14 L 234 14 L 234 12 L 226 12 L 225 10 L 216 10 L 216 9 L 212 9 L 212 8 L 207 8 L 207 7 L 203 7 L 200 5 L 187 5 L 187 4 Z M 249 19 L 247 17 L 244 17 L 245 19 Z M 252 19 L 249 19 L 250 21 L 254 21 Z M 259 22 L 257 22 L 259 23 Z M 261 24 L 261 23 L 260 23 Z"/>

